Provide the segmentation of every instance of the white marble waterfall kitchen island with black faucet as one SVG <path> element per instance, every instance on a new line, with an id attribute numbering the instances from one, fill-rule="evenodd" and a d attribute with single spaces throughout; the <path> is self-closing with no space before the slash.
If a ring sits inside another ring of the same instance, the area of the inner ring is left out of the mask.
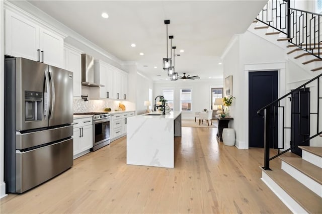
<path id="1" fill-rule="evenodd" d="M 181 112 L 128 118 L 126 163 L 174 168 L 175 136 L 181 137 Z"/>

